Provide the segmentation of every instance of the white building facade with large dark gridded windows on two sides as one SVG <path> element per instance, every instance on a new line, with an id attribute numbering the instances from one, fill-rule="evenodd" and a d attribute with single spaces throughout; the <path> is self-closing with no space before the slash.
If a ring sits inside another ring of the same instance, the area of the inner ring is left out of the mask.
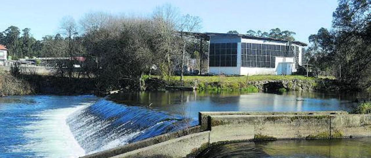
<path id="1" fill-rule="evenodd" d="M 215 75 L 290 75 L 302 65 L 305 43 L 206 33 L 210 37 L 209 73 Z"/>

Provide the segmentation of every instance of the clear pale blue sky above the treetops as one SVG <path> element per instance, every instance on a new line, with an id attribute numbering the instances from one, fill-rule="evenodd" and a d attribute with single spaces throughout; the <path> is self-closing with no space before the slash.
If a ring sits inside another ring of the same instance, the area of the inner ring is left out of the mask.
<path id="1" fill-rule="evenodd" d="M 307 42 L 319 28 L 331 27 L 337 0 L 4 0 L 0 31 L 10 25 L 31 28 L 36 39 L 59 31 L 63 16 L 76 21 L 89 11 L 149 16 L 156 6 L 171 3 L 181 13 L 202 18 L 201 32 L 237 30 L 269 31 L 281 28 L 296 32 L 296 40 Z"/>

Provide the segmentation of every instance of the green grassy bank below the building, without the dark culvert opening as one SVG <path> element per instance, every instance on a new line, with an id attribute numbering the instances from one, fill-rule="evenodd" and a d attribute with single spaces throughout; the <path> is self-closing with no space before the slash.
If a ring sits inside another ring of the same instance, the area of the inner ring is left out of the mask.
<path id="1" fill-rule="evenodd" d="M 303 85 L 310 85 L 313 87 L 316 78 L 305 77 L 305 76 L 280 76 L 280 75 L 255 75 L 255 76 L 184 76 L 183 82 L 180 81 L 180 76 L 171 76 L 167 79 L 160 79 L 158 76 L 145 76 L 145 83 L 147 90 L 161 90 L 165 89 L 167 86 L 195 86 L 197 85 L 197 90 L 241 90 L 244 92 L 258 92 L 263 90 L 263 84 L 267 81 L 278 81 L 285 82 L 286 88 L 288 90 L 295 89 L 295 83 L 292 81 L 303 82 Z M 197 83 L 195 82 L 197 81 Z M 260 83 L 262 82 L 262 83 Z M 264 83 L 263 83 L 264 82 Z M 155 85 L 154 85 L 155 84 Z M 283 88 L 278 87 L 279 88 Z M 294 87 L 294 88 L 292 88 Z"/>

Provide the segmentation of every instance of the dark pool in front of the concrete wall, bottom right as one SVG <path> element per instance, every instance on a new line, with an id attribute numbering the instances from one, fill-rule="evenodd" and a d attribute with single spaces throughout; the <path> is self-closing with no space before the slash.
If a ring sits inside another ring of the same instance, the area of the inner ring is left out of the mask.
<path id="1" fill-rule="evenodd" d="M 197 157 L 371 157 L 371 138 L 234 142 L 213 145 Z"/>

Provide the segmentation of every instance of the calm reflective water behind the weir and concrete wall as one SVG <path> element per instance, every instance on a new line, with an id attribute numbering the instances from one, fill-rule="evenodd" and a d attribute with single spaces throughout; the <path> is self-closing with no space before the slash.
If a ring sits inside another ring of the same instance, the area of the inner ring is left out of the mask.
<path id="1" fill-rule="evenodd" d="M 271 93 L 224 92 L 131 92 L 113 95 L 110 100 L 128 106 L 146 106 L 194 119 L 199 111 L 325 111 L 349 110 L 357 100 L 369 97 L 368 93 Z"/>

